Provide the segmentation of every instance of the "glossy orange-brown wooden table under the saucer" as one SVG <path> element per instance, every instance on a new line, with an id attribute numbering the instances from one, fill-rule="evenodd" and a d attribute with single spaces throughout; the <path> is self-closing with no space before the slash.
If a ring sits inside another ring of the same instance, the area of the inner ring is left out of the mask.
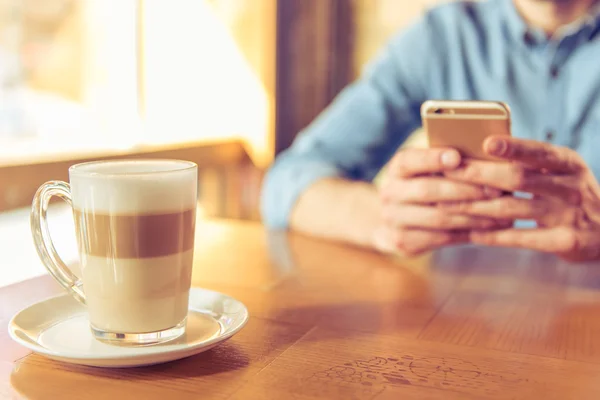
<path id="1" fill-rule="evenodd" d="M 598 399 L 600 265 L 463 247 L 394 260 L 253 223 L 204 222 L 194 285 L 251 319 L 168 364 L 106 370 L 30 354 L 9 318 L 61 289 L 0 289 L 0 398 Z"/>

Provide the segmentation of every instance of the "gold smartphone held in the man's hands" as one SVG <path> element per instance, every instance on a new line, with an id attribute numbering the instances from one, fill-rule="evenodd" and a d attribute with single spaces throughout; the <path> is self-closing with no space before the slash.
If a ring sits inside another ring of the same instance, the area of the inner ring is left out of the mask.
<path id="1" fill-rule="evenodd" d="M 483 151 L 483 142 L 511 135 L 510 108 L 498 101 L 428 100 L 421 118 L 429 147 L 452 147 L 464 157 L 496 159 Z"/>

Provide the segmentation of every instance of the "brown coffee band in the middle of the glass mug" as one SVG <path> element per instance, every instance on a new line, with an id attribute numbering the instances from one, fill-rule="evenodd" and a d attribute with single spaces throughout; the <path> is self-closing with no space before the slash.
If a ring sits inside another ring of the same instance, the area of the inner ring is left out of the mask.
<path id="1" fill-rule="evenodd" d="M 82 257 L 164 257 L 194 247 L 195 208 L 166 214 L 73 213 Z"/>

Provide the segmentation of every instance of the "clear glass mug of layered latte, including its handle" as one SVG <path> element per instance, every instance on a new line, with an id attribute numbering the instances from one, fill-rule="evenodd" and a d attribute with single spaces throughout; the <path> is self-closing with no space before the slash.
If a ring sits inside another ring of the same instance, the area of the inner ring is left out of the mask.
<path id="1" fill-rule="evenodd" d="M 198 167 L 179 160 L 115 160 L 69 168 L 33 199 L 31 230 L 44 266 L 84 304 L 96 339 L 152 344 L 185 332 L 194 256 Z M 73 209 L 81 263 L 58 256 L 46 220 L 57 196 Z"/>

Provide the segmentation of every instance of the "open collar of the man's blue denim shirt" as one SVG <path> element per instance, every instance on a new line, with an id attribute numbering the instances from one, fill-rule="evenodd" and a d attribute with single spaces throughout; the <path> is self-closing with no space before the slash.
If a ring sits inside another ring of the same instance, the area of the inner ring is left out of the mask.
<path id="1" fill-rule="evenodd" d="M 506 19 L 506 26 L 509 34 L 520 43 L 525 45 L 534 45 L 536 43 L 546 42 L 547 36 L 541 29 L 536 29 L 527 25 L 519 11 L 515 7 L 513 0 L 500 0 L 503 7 L 503 13 Z M 600 2 L 596 3 L 590 11 L 577 21 L 560 28 L 555 34 L 555 38 L 560 39 L 573 35 L 577 32 L 598 32 L 600 29 Z"/>

